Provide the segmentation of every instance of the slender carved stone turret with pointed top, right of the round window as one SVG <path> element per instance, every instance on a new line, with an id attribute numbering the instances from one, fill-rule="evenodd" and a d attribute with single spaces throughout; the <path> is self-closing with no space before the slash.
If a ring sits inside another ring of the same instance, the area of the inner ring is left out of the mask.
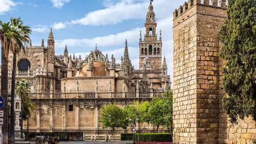
<path id="1" fill-rule="evenodd" d="M 54 39 L 53 39 L 53 31 L 50 30 L 50 34 L 48 37 L 48 75 L 54 76 Z"/>

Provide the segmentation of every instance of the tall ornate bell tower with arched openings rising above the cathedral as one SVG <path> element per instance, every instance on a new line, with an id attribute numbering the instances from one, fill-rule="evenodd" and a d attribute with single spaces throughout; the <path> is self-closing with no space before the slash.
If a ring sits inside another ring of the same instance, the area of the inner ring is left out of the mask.
<path id="1" fill-rule="evenodd" d="M 145 23 L 145 35 L 144 40 L 140 34 L 139 38 L 139 68 L 143 69 L 143 59 L 149 58 L 151 67 L 154 69 L 161 69 L 162 65 L 162 37 L 160 34 L 160 40 L 157 40 L 156 34 L 157 23 L 155 21 L 155 12 L 153 11 L 153 5 L 150 3 L 149 11 L 147 12 L 147 18 Z M 141 32 L 140 32 L 141 33 Z"/>

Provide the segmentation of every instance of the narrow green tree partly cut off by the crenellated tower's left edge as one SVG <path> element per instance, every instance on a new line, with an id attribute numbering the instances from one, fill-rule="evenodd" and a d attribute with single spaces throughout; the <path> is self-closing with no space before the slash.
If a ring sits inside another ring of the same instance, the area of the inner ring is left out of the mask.
<path id="1" fill-rule="evenodd" d="M 164 126 L 167 129 L 171 129 L 173 133 L 173 91 L 167 90 L 163 93 L 163 116 L 164 116 Z"/>

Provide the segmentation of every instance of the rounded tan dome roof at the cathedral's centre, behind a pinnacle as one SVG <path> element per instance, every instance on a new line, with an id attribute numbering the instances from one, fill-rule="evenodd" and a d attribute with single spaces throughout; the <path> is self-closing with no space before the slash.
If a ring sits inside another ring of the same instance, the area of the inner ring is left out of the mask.
<path id="1" fill-rule="evenodd" d="M 87 69 L 88 69 L 88 63 L 82 67 L 82 71 L 81 71 L 79 77 L 87 77 Z M 101 61 L 93 62 L 92 76 L 107 76 L 107 74 L 108 73 L 107 73 L 107 70 L 105 67 L 105 62 L 101 62 Z"/>

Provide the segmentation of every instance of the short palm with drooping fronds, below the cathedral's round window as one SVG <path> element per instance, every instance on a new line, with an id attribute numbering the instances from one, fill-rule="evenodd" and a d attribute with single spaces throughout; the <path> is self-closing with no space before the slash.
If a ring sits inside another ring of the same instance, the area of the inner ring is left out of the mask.
<path id="1" fill-rule="evenodd" d="M 29 99 L 29 93 L 31 92 L 30 83 L 27 80 L 19 80 L 15 83 L 15 92 L 21 97 L 21 131 L 23 130 L 22 127 L 22 120 L 27 120 L 27 115 L 31 116 L 30 110 L 35 109 L 35 104 Z M 23 134 L 21 133 L 21 136 Z"/>

